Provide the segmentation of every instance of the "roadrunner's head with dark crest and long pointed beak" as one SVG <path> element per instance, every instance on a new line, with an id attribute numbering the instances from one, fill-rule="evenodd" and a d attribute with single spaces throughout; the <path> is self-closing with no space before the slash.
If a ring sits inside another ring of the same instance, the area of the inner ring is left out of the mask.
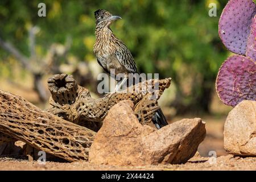
<path id="1" fill-rule="evenodd" d="M 96 26 L 109 26 L 114 20 L 122 19 L 120 16 L 112 15 L 106 10 L 97 10 L 94 12 Z"/>

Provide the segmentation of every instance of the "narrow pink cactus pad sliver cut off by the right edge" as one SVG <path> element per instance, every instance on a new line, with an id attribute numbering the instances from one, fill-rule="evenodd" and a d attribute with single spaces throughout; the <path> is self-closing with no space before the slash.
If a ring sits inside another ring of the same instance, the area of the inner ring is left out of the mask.
<path id="1" fill-rule="evenodd" d="M 246 56 L 256 60 L 256 15 L 251 23 L 251 31 L 247 40 Z"/>

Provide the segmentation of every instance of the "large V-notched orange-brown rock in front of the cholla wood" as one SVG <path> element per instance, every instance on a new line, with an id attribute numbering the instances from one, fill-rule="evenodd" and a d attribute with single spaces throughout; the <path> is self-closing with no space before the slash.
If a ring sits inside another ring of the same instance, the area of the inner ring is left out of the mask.
<path id="1" fill-rule="evenodd" d="M 155 130 L 142 126 L 131 101 L 109 110 L 90 147 L 89 162 L 115 166 L 185 163 L 203 141 L 205 123 L 200 118 L 182 119 Z"/>

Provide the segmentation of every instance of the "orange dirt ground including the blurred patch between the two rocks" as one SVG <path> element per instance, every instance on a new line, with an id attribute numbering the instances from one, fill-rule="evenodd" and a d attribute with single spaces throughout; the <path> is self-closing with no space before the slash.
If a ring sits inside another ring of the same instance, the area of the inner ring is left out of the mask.
<path id="1" fill-rule="evenodd" d="M 177 121 L 183 117 L 174 118 Z M 207 137 L 200 144 L 198 153 L 185 164 L 166 164 L 144 167 L 99 166 L 88 162 L 28 162 L 26 158 L 0 157 L 0 170 L 256 170 L 256 158 L 229 155 L 223 147 L 225 117 L 202 117 L 206 122 Z M 216 154 L 217 158 L 211 157 Z M 211 157 L 211 158 L 210 158 Z"/>

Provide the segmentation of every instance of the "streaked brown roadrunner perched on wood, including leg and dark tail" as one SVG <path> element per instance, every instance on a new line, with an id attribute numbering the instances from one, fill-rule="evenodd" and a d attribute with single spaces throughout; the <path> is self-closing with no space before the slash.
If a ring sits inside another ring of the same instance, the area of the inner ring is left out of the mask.
<path id="1" fill-rule="evenodd" d="M 115 75 L 118 73 L 125 73 L 125 75 L 138 73 L 131 52 L 125 44 L 113 34 L 109 27 L 114 20 L 122 18 L 112 15 L 106 10 L 95 11 L 94 16 L 96 19 L 96 43 L 94 44 L 93 51 L 101 67 L 109 74 L 110 69 L 114 69 Z M 120 81 L 121 85 L 124 80 L 125 79 Z M 161 109 L 156 111 L 152 117 L 152 122 L 158 129 L 168 125 Z"/>

